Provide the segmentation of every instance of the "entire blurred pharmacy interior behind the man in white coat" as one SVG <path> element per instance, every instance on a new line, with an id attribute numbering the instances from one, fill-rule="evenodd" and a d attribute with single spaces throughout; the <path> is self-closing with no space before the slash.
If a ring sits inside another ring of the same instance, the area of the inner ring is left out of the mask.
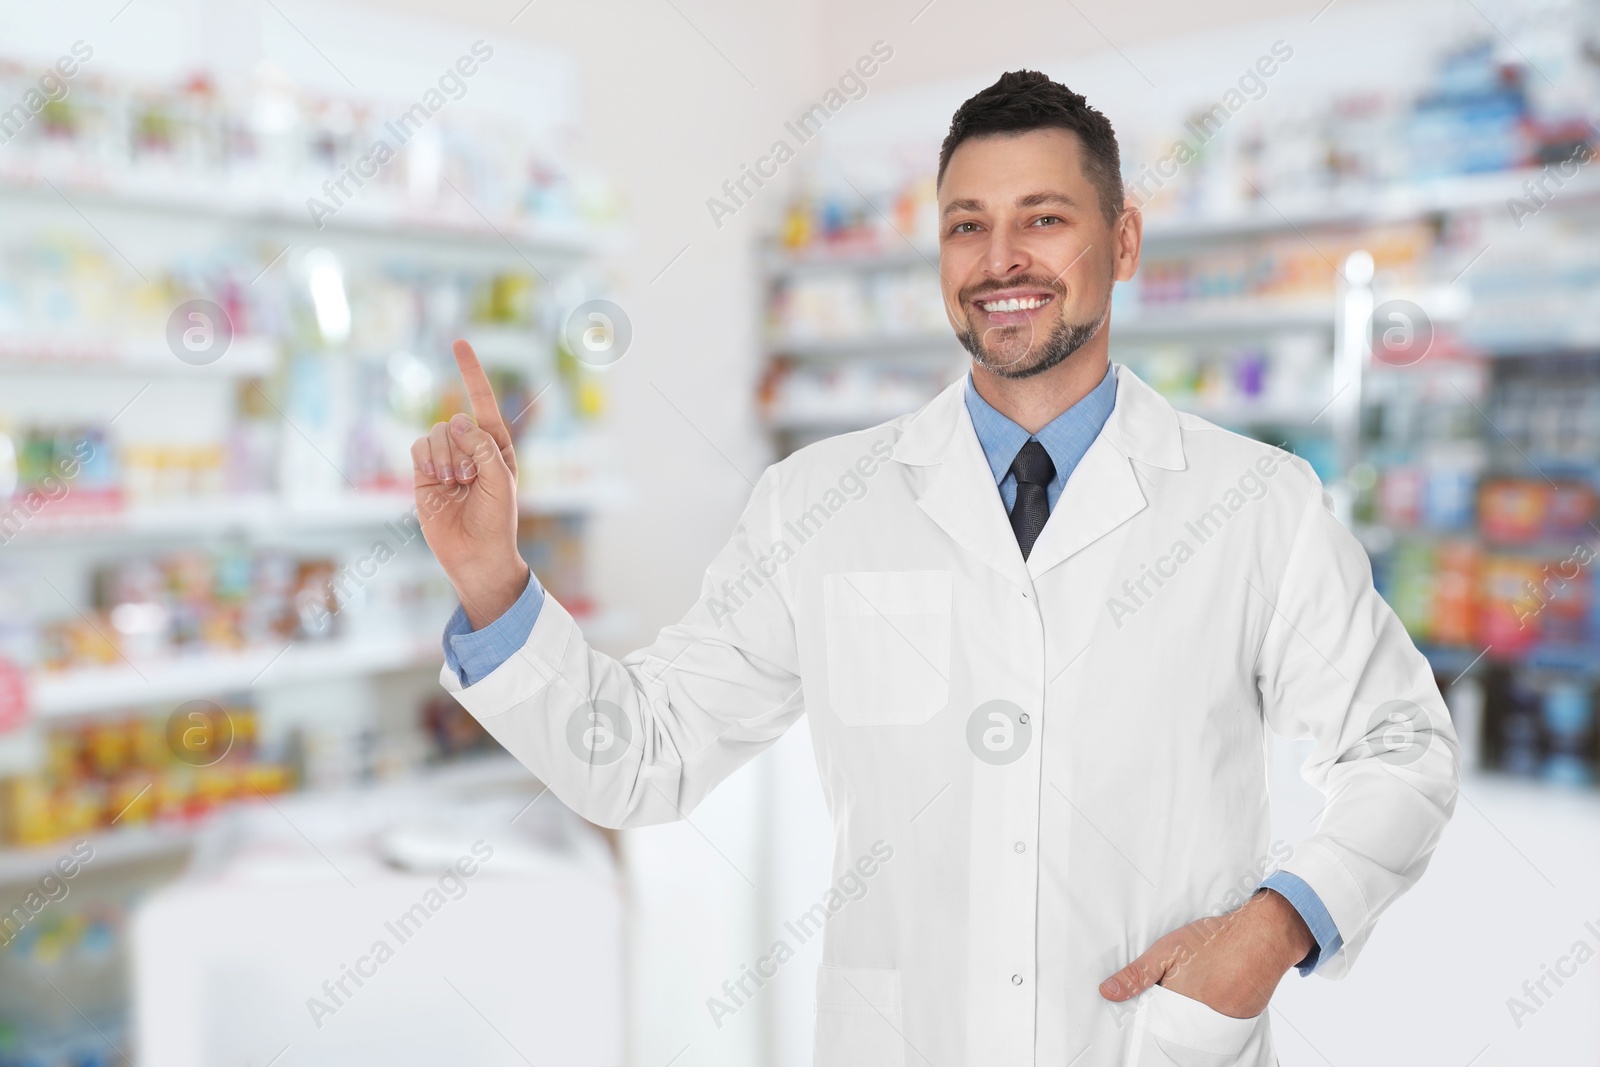
<path id="1" fill-rule="evenodd" d="M 1282 1062 L 1600 1064 L 1595 0 L 0 8 L 0 1064 L 810 1064 L 819 939 L 709 1009 L 827 886 L 805 723 L 584 824 L 440 689 L 406 448 L 470 339 L 525 557 L 646 643 L 962 373 L 936 154 L 1016 67 L 1146 211 L 1112 358 L 1317 467 L 1470 765 Z"/>

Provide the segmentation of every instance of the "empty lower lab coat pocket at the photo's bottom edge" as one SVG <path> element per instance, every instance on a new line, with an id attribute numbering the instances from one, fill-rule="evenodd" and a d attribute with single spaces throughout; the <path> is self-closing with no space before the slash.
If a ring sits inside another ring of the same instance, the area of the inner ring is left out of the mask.
<path id="1" fill-rule="evenodd" d="M 901 1030 L 899 971 L 816 969 L 813 1067 L 904 1067 Z"/>

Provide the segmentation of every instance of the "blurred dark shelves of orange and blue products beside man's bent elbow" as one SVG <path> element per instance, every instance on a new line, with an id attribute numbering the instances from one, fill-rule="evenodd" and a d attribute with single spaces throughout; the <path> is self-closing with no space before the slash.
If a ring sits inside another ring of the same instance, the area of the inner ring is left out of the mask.
<path id="1" fill-rule="evenodd" d="M 1594 784 L 1600 349 L 1422 362 L 1379 382 L 1357 531 L 1469 758 Z"/>

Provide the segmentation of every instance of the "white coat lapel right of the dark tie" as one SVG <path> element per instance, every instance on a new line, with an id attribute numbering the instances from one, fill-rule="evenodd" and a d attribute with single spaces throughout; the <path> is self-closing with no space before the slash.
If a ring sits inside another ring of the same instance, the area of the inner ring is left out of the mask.
<path id="1" fill-rule="evenodd" d="M 1027 557 L 1035 581 L 1144 510 L 1136 461 L 1184 469 L 1178 413 L 1126 366 L 1115 365 L 1115 371 L 1110 418 L 1067 478 Z"/>

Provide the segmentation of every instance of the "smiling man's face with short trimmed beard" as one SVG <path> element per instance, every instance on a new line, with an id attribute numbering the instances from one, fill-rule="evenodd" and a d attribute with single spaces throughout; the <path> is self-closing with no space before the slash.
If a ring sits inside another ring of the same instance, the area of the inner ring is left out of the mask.
<path id="1" fill-rule="evenodd" d="M 957 338 L 1002 378 L 1061 363 L 1104 326 L 1112 282 L 1133 277 L 1067 130 L 973 138 L 939 186 L 939 286 Z M 1136 227 L 1134 227 L 1136 229 Z"/>

